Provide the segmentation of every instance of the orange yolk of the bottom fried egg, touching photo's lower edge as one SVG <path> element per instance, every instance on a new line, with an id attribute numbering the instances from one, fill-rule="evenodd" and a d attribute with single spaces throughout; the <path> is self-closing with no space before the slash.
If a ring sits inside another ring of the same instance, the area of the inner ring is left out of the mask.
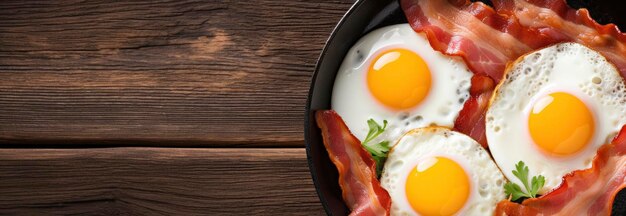
<path id="1" fill-rule="evenodd" d="M 470 182 L 453 160 L 432 157 L 409 173 L 405 189 L 409 204 L 420 215 L 452 215 L 465 205 Z"/>

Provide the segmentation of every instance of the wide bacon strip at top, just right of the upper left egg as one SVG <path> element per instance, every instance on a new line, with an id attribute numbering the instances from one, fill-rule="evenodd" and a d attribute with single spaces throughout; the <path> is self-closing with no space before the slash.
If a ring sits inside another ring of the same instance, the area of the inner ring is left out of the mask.
<path id="1" fill-rule="evenodd" d="M 435 50 L 462 57 L 474 73 L 496 82 L 509 61 L 554 37 L 524 28 L 515 17 L 497 14 L 481 2 L 401 0 L 400 4 L 411 27 L 425 33 Z"/>

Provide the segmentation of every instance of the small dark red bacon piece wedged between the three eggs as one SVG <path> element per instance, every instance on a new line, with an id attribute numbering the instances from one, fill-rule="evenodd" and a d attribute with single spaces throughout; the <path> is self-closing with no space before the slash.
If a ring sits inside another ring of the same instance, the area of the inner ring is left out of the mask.
<path id="1" fill-rule="evenodd" d="M 487 110 L 494 88 L 495 83 L 491 78 L 474 75 L 470 88 L 470 98 L 465 102 L 459 117 L 454 122 L 454 130 L 474 138 L 484 148 L 487 148 L 485 110 Z"/>

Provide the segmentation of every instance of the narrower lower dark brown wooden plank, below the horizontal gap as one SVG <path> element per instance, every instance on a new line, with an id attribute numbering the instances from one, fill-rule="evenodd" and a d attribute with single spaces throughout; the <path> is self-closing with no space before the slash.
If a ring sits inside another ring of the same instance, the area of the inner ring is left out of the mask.
<path id="1" fill-rule="evenodd" d="M 304 149 L 0 149 L 1 215 L 321 215 Z"/>

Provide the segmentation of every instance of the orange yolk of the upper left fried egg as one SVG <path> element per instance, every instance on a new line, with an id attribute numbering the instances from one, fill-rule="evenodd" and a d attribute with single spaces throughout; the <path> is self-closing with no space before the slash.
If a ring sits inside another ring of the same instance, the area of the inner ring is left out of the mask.
<path id="1" fill-rule="evenodd" d="M 402 110 L 418 105 L 428 95 L 430 70 L 417 54 L 406 49 L 380 53 L 367 73 L 367 85 L 378 101 Z"/>

